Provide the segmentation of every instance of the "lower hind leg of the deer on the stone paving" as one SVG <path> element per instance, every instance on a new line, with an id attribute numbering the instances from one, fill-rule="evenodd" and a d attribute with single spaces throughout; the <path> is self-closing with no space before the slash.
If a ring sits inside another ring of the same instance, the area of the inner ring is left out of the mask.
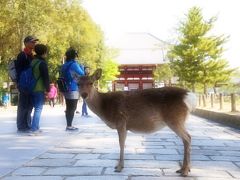
<path id="1" fill-rule="evenodd" d="M 184 125 L 171 125 L 169 126 L 183 141 L 184 145 L 184 158 L 182 168 L 176 171 L 181 173 L 182 176 L 187 176 L 190 172 L 190 150 L 191 150 L 191 136 L 186 131 Z"/>

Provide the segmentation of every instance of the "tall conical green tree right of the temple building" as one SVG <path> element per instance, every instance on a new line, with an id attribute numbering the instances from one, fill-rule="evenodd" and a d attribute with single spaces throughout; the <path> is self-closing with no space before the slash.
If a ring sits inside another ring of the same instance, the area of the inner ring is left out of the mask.
<path id="1" fill-rule="evenodd" d="M 228 64 L 222 63 L 221 55 L 228 37 L 209 35 L 215 21 L 216 17 L 205 21 L 200 8 L 191 8 L 178 29 L 178 43 L 169 51 L 175 75 L 180 83 L 190 85 L 193 92 L 196 83 L 204 84 L 206 89 L 207 85 L 214 85 L 213 81 L 209 81 L 210 76 L 213 79 L 219 77 L 222 71 L 227 71 Z M 214 74 L 209 72 L 210 65 L 215 69 Z M 229 70 L 225 75 L 229 77 L 230 74 Z"/>

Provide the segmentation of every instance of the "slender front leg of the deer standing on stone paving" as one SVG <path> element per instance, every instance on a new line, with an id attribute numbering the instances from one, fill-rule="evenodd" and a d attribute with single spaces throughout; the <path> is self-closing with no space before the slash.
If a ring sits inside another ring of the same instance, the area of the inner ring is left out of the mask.
<path id="1" fill-rule="evenodd" d="M 115 167 L 115 172 L 121 172 L 124 167 L 124 146 L 127 137 L 126 123 L 124 122 L 120 127 L 117 128 L 119 145 L 120 145 L 120 158 L 118 164 Z"/>

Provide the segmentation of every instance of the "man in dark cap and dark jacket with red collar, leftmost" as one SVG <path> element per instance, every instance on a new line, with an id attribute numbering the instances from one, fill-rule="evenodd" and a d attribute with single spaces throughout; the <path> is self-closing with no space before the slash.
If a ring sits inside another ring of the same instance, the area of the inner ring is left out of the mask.
<path id="1" fill-rule="evenodd" d="M 16 60 L 17 84 L 20 74 L 29 68 L 33 59 L 33 49 L 38 39 L 34 36 L 27 36 L 24 39 L 25 48 L 21 51 Z M 31 95 L 19 89 L 19 99 L 17 107 L 17 130 L 18 132 L 28 132 L 31 127 L 32 102 Z"/>

